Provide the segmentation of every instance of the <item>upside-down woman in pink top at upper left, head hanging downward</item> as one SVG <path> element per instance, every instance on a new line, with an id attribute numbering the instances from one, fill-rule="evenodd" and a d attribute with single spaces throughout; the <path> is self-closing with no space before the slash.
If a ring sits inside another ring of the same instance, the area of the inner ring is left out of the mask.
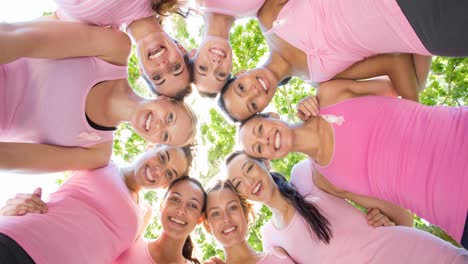
<path id="1" fill-rule="evenodd" d="M 191 92 L 187 51 L 162 28 L 161 21 L 179 13 L 178 0 L 55 0 L 62 21 L 111 26 L 133 39 L 142 77 L 152 92 L 183 99 Z M 103 36 L 95 36 L 100 38 Z M 105 46 L 104 46 L 105 47 Z M 96 47 L 103 48 L 103 47 Z"/>

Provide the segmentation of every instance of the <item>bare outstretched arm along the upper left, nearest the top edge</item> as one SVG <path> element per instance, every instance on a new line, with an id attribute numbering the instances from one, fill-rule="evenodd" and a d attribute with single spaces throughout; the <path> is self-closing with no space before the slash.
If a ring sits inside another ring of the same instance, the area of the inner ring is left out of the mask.
<path id="1" fill-rule="evenodd" d="M 53 20 L 0 23 L 0 64 L 22 57 L 96 56 L 126 65 L 130 50 L 130 38 L 116 29 Z"/>

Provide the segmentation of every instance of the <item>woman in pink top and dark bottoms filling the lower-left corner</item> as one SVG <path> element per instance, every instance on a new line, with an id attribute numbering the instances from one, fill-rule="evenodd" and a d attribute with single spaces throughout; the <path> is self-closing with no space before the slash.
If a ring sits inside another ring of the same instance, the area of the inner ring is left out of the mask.
<path id="1" fill-rule="evenodd" d="M 7 263 L 111 263 L 144 228 L 140 190 L 167 187 L 187 174 L 191 161 L 189 146 L 159 145 L 128 167 L 110 163 L 73 172 L 46 205 L 39 197 L 13 199 L 10 203 L 20 204 L 3 210 L 13 216 L 0 217 L 0 256 Z M 30 213 L 37 211 L 42 214 Z"/>

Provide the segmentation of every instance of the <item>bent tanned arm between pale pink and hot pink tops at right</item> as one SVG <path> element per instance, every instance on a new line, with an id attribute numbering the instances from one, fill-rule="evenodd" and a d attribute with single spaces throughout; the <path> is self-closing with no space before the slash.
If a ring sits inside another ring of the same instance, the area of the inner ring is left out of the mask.
<path id="1" fill-rule="evenodd" d="M 411 54 L 381 54 L 353 64 L 335 78 L 368 79 L 387 75 L 403 98 L 419 99 L 419 84 Z"/>

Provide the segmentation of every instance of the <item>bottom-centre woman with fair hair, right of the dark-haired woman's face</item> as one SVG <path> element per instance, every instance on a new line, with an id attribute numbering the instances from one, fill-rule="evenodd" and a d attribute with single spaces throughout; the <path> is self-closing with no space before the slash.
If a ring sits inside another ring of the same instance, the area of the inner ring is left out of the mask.
<path id="1" fill-rule="evenodd" d="M 226 263 L 294 263 L 282 249 L 256 252 L 249 246 L 249 226 L 255 220 L 253 205 L 228 181 L 218 180 L 207 193 L 203 225 L 223 246 Z"/>

